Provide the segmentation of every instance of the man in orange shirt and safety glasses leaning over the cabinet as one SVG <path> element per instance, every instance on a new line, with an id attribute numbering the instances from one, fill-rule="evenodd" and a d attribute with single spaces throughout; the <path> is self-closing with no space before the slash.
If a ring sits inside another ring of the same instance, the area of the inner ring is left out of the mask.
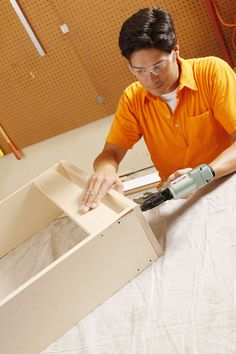
<path id="1" fill-rule="evenodd" d="M 110 188 L 122 191 L 119 163 L 142 136 L 162 180 L 202 163 L 215 178 L 236 171 L 236 74 L 228 64 L 179 57 L 172 18 L 157 7 L 125 21 L 119 46 L 138 81 L 121 96 L 81 211 L 95 208 Z"/>

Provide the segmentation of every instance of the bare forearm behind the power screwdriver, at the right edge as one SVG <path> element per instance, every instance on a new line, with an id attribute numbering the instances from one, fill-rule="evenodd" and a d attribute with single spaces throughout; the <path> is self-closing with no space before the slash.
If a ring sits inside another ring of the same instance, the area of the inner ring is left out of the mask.
<path id="1" fill-rule="evenodd" d="M 223 177 L 236 171 L 236 141 L 210 163 L 215 177 Z"/>

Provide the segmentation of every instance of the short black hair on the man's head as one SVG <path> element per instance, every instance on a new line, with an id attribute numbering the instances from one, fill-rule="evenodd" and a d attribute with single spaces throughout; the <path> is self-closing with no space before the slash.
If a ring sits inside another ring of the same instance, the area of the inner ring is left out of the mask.
<path id="1" fill-rule="evenodd" d="M 139 10 L 121 27 L 119 47 L 128 60 L 137 50 L 156 48 L 171 53 L 175 46 L 176 34 L 171 15 L 159 7 Z"/>

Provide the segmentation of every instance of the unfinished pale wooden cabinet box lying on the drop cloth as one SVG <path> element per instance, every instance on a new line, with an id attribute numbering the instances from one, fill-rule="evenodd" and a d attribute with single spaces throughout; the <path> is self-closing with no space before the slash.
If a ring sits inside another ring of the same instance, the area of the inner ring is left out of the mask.
<path id="1" fill-rule="evenodd" d="M 0 257 L 63 214 L 85 232 L 1 300 L 1 353 L 39 353 L 162 254 L 139 206 L 115 191 L 81 214 L 86 180 L 60 162 L 0 203 Z"/>

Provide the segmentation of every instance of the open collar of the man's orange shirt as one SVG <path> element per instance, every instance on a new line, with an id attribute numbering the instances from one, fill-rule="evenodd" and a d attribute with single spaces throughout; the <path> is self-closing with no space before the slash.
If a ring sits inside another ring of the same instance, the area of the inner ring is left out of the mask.
<path id="1" fill-rule="evenodd" d="M 180 79 L 179 79 L 179 89 L 180 92 L 184 87 L 189 88 L 190 90 L 197 91 L 197 84 L 194 79 L 192 63 L 188 60 L 178 57 L 178 64 L 180 65 Z M 143 102 L 146 103 L 147 99 L 153 100 L 158 96 L 152 95 L 147 89 L 143 87 Z"/>

